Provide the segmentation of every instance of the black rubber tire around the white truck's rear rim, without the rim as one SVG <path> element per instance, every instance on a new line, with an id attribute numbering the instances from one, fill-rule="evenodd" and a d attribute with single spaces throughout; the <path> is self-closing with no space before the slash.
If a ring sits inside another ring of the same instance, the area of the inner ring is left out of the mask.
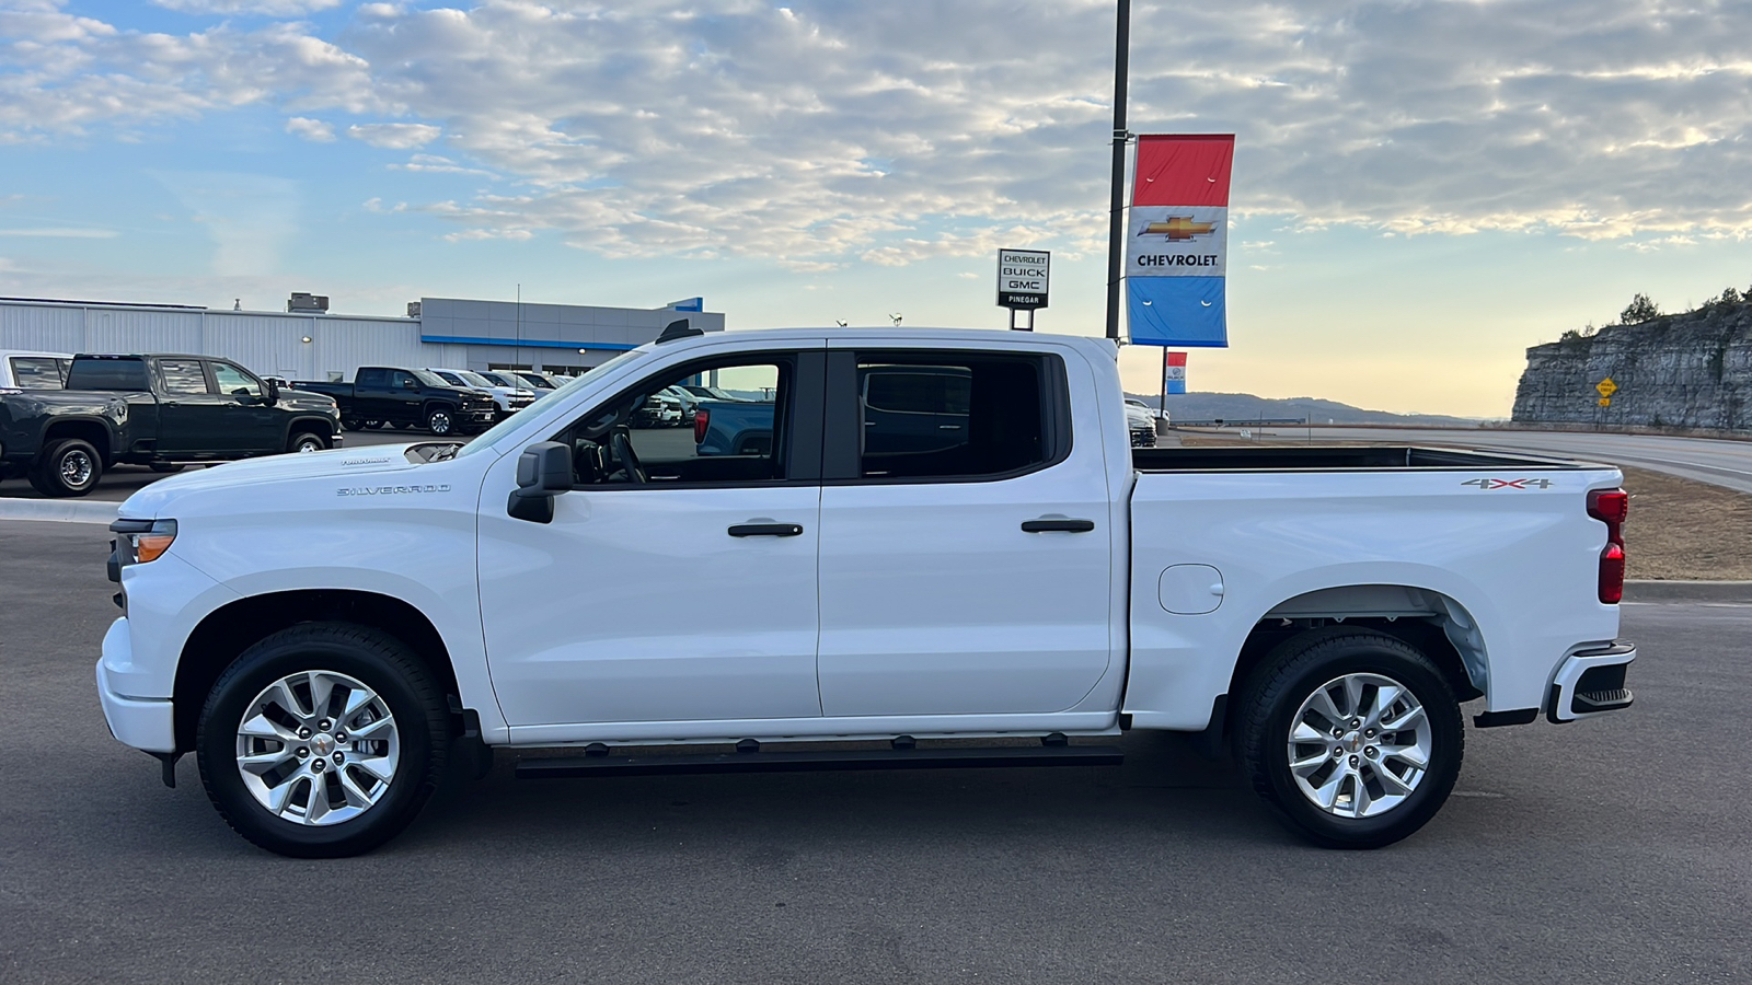
<path id="1" fill-rule="evenodd" d="M 1368 638 L 1316 643 L 1295 671 L 1277 682 L 1270 712 L 1260 724 L 1258 768 L 1270 785 L 1270 801 L 1286 818 L 1325 847 L 1379 848 L 1407 838 L 1430 822 L 1447 801 L 1465 757 L 1465 726 L 1452 689 L 1440 671 L 1409 645 Z M 1398 647 L 1405 647 L 1402 652 Z M 1353 673 L 1388 677 L 1407 689 L 1430 722 L 1430 766 L 1403 803 L 1379 817 L 1335 817 L 1309 803 L 1289 771 L 1289 724 L 1323 684 Z"/>

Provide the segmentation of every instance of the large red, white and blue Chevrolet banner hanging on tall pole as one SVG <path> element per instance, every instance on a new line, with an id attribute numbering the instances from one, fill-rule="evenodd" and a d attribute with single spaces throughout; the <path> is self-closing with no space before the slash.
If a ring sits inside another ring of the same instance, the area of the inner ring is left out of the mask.
<path id="1" fill-rule="evenodd" d="M 1228 345 L 1228 174 L 1233 133 L 1137 138 L 1125 277 L 1132 342 Z"/>

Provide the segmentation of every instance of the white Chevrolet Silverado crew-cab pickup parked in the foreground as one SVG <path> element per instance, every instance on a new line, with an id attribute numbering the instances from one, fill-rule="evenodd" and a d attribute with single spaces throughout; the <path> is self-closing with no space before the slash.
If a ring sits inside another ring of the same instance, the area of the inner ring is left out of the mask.
<path id="1" fill-rule="evenodd" d="M 708 375 L 771 396 L 771 440 L 632 424 Z M 1447 799 L 1461 703 L 1631 703 L 1619 482 L 1134 450 L 1097 338 L 671 326 L 468 445 L 135 492 L 96 684 L 116 738 L 172 785 L 194 752 L 286 855 L 382 843 L 499 747 L 573 752 L 519 776 L 1091 766 L 1127 729 L 1202 733 L 1296 831 L 1368 848 Z"/>

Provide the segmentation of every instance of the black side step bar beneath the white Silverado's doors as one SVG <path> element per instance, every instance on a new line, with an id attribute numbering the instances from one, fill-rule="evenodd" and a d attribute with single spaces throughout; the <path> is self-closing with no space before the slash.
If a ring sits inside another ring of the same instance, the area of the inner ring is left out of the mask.
<path id="1" fill-rule="evenodd" d="M 564 755 L 522 759 L 519 780 L 569 776 L 666 776 L 676 773 L 801 773 L 811 769 L 948 769 L 971 766 L 1120 766 L 1111 745 L 855 748 L 717 752 L 706 755 Z"/>

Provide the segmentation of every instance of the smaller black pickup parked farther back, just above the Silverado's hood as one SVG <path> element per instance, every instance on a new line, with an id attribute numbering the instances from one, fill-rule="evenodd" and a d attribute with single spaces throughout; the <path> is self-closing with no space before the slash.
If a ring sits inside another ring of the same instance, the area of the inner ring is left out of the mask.
<path id="1" fill-rule="evenodd" d="M 298 389 L 335 398 L 342 428 L 426 428 L 433 435 L 473 435 L 492 428 L 498 403 L 492 394 L 457 387 L 426 370 L 359 366 L 350 384 L 300 380 Z"/>

